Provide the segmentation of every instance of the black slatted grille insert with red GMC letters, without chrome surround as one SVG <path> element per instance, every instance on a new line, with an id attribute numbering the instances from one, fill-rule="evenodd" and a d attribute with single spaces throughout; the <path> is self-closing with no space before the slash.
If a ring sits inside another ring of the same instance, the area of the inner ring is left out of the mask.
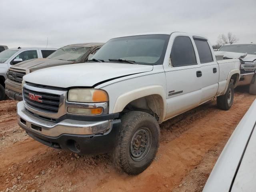
<path id="1" fill-rule="evenodd" d="M 23 98 L 30 106 L 40 110 L 50 113 L 57 113 L 59 110 L 60 95 L 36 92 L 23 88 Z"/>

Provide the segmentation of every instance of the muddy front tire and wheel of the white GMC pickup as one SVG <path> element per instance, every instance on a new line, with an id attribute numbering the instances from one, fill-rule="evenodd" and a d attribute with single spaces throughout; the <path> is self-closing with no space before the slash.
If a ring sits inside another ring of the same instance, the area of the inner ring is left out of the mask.
<path id="1" fill-rule="evenodd" d="M 160 128 L 156 119 L 145 112 L 132 111 L 121 118 L 114 162 L 127 174 L 140 174 L 154 160 L 159 147 Z"/>

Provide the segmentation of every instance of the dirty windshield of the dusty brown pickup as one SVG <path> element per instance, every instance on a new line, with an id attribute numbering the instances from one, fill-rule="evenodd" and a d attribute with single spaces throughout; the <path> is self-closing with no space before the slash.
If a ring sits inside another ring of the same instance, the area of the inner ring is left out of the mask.
<path id="1" fill-rule="evenodd" d="M 88 49 L 89 47 L 65 46 L 56 50 L 47 58 L 66 61 L 79 61 L 82 56 L 84 56 L 84 54 L 88 51 Z"/>

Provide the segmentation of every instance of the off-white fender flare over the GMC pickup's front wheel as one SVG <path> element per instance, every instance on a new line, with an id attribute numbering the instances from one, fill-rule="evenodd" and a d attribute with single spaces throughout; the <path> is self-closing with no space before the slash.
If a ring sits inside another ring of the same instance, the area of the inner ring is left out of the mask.
<path id="1" fill-rule="evenodd" d="M 120 95 L 116 99 L 116 103 L 114 104 L 113 113 L 122 112 L 125 106 L 128 105 L 130 102 L 138 98 L 142 98 L 150 95 L 158 95 L 162 98 L 163 110 L 160 112 L 159 122 L 163 122 L 164 117 L 166 116 L 167 104 L 166 104 L 166 92 L 164 88 L 160 85 L 146 86 L 146 87 L 138 88 Z"/>

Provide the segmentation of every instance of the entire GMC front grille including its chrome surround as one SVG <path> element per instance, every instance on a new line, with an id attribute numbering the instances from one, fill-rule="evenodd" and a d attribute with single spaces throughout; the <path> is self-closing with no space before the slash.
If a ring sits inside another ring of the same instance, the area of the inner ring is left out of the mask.
<path id="1" fill-rule="evenodd" d="M 66 90 L 25 83 L 22 92 L 25 108 L 32 113 L 48 118 L 66 114 Z"/>

